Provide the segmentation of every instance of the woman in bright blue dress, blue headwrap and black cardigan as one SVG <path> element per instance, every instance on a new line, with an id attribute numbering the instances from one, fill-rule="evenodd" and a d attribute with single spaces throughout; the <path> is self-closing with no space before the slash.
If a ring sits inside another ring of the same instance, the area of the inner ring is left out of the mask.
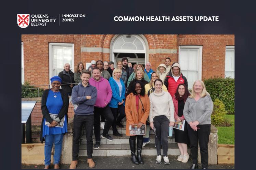
<path id="1" fill-rule="evenodd" d="M 61 78 L 51 78 L 51 89 L 44 90 L 41 110 L 43 114 L 40 141 L 44 145 L 44 169 L 50 169 L 51 151 L 54 144 L 54 169 L 60 169 L 62 140 L 67 132 L 68 94 L 60 89 Z"/>

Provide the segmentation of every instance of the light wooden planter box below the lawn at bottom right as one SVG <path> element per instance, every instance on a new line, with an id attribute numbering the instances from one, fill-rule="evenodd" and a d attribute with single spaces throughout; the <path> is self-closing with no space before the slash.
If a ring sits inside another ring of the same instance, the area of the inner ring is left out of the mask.
<path id="1" fill-rule="evenodd" d="M 235 145 L 218 144 L 218 164 L 235 164 Z"/>

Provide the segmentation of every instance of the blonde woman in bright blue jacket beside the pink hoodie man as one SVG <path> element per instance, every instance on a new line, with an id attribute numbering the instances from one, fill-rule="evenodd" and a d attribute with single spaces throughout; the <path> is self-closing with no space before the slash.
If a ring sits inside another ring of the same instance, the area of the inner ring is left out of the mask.
<path id="1" fill-rule="evenodd" d="M 119 127 L 124 127 L 121 124 L 121 120 L 125 117 L 125 84 L 122 79 L 120 79 L 122 70 L 120 68 L 115 68 L 113 71 L 113 77 L 109 79 L 109 83 L 112 89 L 112 98 L 109 103 L 110 109 L 114 115 L 114 122 L 112 124 L 113 135 L 122 136 L 117 132 L 116 125 Z M 117 112 L 120 115 L 117 117 Z"/>

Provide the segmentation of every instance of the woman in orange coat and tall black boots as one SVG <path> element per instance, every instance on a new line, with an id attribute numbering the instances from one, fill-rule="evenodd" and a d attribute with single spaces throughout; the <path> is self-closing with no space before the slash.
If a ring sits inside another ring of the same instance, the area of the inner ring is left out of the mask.
<path id="1" fill-rule="evenodd" d="M 148 95 L 145 95 L 145 87 L 141 81 L 133 84 L 132 92 L 127 95 L 125 101 L 125 114 L 126 114 L 126 136 L 130 136 L 129 143 L 131 149 L 131 160 L 134 164 L 144 164 L 141 158 L 143 135 L 130 135 L 129 126 L 138 128 L 142 124 L 146 124 L 149 117 L 150 101 Z M 137 137 L 137 158 L 135 154 L 135 143 Z"/>

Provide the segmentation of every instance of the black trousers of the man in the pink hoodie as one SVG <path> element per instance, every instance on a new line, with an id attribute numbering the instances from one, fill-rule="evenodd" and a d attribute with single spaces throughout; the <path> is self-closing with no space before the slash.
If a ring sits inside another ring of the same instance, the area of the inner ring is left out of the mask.
<path id="1" fill-rule="evenodd" d="M 103 114 L 103 116 L 106 119 L 103 135 L 108 134 L 108 130 L 112 126 L 112 123 L 114 122 L 114 116 L 112 114 L 112 111 L 110 107 L 107 105 L 104 108 L 94 107 L 94 135 L 96 141 L 100 142 L 100 115 Z"/>

